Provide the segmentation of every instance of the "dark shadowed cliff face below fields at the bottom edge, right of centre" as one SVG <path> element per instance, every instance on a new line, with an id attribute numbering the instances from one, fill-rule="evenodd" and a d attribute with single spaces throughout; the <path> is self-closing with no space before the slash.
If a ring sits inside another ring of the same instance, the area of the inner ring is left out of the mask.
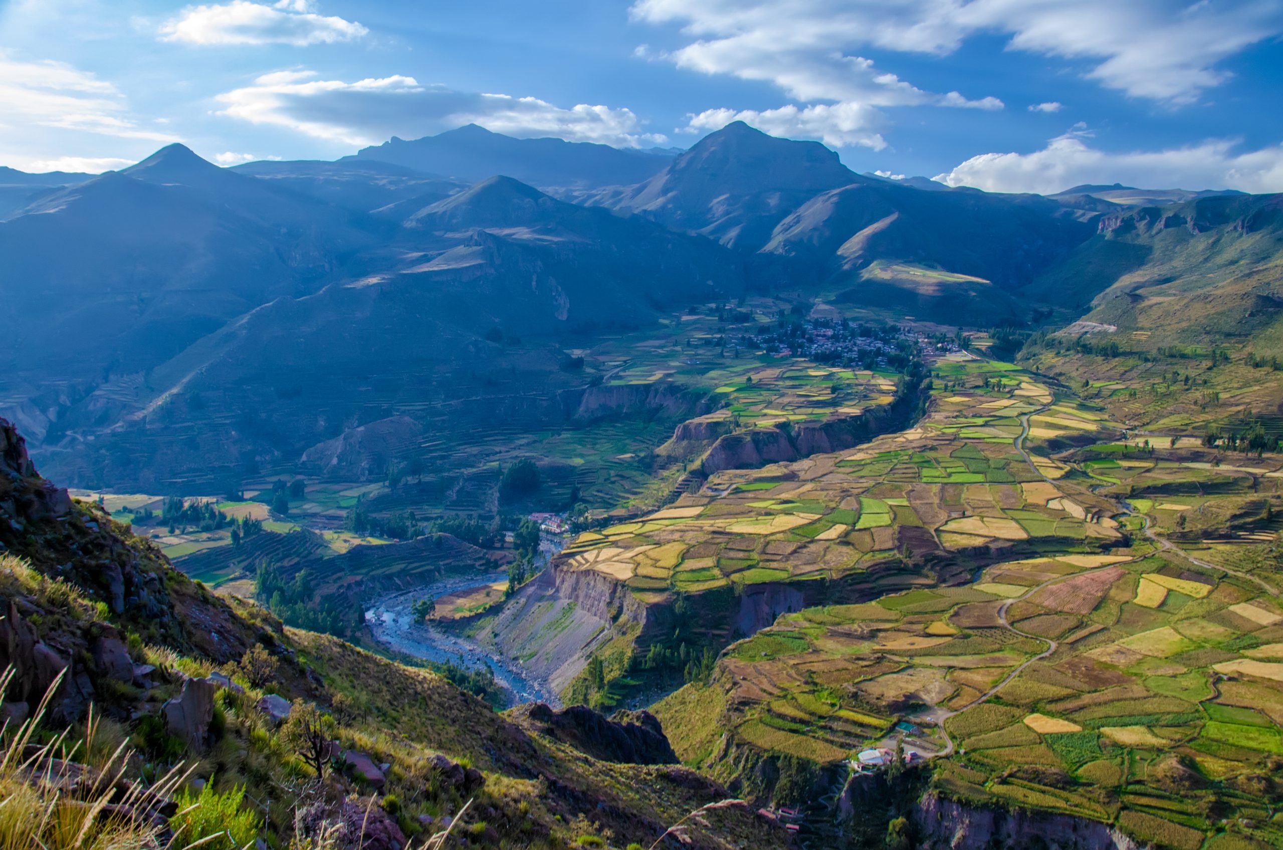
<path id="1" fill-rule="evenodd" d="M 1142 845 L 1098 820 L 973 806 L 926 794 L 913 810 L 922 850 L 1142 850 Z"/>

